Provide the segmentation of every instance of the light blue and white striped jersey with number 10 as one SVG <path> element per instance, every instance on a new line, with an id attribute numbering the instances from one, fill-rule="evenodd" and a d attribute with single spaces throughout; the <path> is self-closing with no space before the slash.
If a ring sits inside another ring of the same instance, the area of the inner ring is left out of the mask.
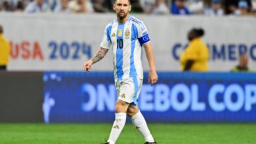
<path id="1" fill-rule="evenodd" d="M 141 49 L 148 43 L 148 31 L 142 21 L 129 16 L 127 22 L 114 20 L 106 26 L 100 47 L 113 49 L 115 80 L 130 77 L 143 79 Z"/>

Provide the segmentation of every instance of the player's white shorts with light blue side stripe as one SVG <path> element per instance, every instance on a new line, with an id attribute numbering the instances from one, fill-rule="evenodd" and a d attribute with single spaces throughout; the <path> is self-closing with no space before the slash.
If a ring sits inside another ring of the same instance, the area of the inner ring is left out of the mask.
<path id="1" fill-rule="evenodd" d="M 130 77 L 129 79 L 116 81 L 115 84 L 118 99 L 131 103 L 132 105 L 137 105 L 142 87 L 142 79 L 139 79 L 139 77 Z"/>

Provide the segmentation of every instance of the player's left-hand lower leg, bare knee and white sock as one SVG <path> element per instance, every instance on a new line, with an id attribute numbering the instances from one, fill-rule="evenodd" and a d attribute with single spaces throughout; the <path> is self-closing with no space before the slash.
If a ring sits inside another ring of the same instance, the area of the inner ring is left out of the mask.
<path id="1" fill-rule="evenodd" d="M 123 126 L 125 126 L 126 121 L 126 111 L 129 107 L 130 103 L 117 99 L 116 101 L 116 120 L 112 126 L 112 130 L 110 132 L 110 137 L 108 138 L 108 142 L 110 144 L 116 143 L 117 138 L 121 134 L 123 130 Z"/>

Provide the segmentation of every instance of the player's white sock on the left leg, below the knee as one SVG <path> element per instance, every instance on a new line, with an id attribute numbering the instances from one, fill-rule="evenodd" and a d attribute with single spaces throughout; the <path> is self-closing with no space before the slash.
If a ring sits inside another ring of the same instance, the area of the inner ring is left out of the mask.
<path id="1" fill-rule="evenodd" d="M 108 142 L 110 142 L 110 144 L 116 143 L 117 138 L 123 130 L 123 126 L 125 126 L 125 121 L 126 113 L 116 113 L 116 120 L 110 132 L 110 137 L 108 138 Z"/>

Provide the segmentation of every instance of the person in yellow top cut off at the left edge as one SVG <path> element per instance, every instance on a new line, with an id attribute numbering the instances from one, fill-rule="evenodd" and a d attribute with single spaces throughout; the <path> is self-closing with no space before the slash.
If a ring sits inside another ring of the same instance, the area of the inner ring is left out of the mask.
<path id="1" fill-rule="evenodd" d="M 9 41 L 3 36 L 3 27 L 0 25 L 0 71 L 6 71 L 9 63 L 11 46 Z"/>

